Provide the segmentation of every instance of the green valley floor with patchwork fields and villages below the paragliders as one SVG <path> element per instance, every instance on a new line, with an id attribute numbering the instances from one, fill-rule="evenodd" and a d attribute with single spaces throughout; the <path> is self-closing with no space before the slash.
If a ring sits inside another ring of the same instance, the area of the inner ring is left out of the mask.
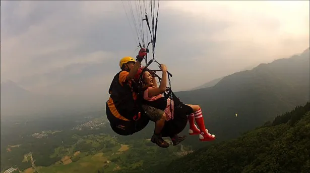
<path id="1" fill-rule="evenodd" d="M 25 173 L 145 171 L 191 152 L 181 144 L 164 149 L 144 137 L 115 135 L 104 117 L 79 126 L 82 128 L 25 134 L 10 145 L 2 145 L 1 169 L 13 167 Z"/>

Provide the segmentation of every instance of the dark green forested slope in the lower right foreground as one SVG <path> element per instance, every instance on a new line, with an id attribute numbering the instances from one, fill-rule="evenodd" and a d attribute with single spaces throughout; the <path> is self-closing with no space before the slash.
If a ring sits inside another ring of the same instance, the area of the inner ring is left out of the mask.
<path id="1" fill-rule="evenodd" d="M 278 116 L 272 124 L 237 139 L 201 148 L 167 166 L 153 167 L 153 170 L 175 173 L 310 172 L 309 124 L 310 102 Z"/>

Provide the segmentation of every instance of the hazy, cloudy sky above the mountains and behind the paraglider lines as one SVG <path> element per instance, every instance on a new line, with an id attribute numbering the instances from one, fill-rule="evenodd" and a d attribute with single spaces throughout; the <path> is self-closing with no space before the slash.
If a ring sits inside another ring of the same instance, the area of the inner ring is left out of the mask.
<path id="1" fill-rule="evenodd" d="M 119 60 L 138 53 L 128 3 L 1 1 L 1 82 L 107 100 Z M 155 58 L 188 90 L 301 53 L 309 26 L 309 1 L 160 1 Z"/>

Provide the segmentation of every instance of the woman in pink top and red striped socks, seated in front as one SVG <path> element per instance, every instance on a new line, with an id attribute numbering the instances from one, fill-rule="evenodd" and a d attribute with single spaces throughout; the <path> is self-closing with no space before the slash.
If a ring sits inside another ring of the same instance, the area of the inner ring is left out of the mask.
<path id="1" fill-rule="evenodd" d="M 136 83 L 139 82 L 140 75 L 143 71 L 143 68 L 138 70 L 138 73 L 135 76 Z M 151 138 L 151 141 L 156 143 L 157 140 L 161 140 L 161 129 L 164 126 L 164 122 L 170 119 L 173 119 L 173 114 L 175 112 L 173 100 L 165 99 L 163 93 L 166 91 L 167 87 L 167 68 L 165 65 L 161 65 L 160 69 L 162 71 L 162 78 L 159 87 L 155 77 L 151 75 L 150 72 L 144 71 L 142 74 L 142 88 L 143 88 L 143 99 L 144 104 L 142 108 L 152 121 L 155 122 L 154 135 Z M 199 134 L 199 139 L 201 141 L 210 141 L 215 139 L 215 135 L 210 134 L 208 129 L 205 128 L 204 117 L 202 115 L 202 110 L 199 105 L 185 104 L 186 106 L 191 107 L 192 112 L 189 112 L 188 121 L 190 123 L 189 134 L 196 135 Z M 151 106 L 151 107 L 150 107 Z M 157 108 L 157 109 L 155 109 Z M 172 111 L 170 111 L 170 108 Z M 185 108 L 186 109 L 186 108 Z M 184 109 L 184 110 L 185 110 Z M 189 109 L 187 109 L 189 110 Z M 149 113 L 150 112 L 150 113 Z M 187 111 L 188 112 L 188 111 Z M 199 128 L 195 125 L 195 121 L 198 124 Z"/>

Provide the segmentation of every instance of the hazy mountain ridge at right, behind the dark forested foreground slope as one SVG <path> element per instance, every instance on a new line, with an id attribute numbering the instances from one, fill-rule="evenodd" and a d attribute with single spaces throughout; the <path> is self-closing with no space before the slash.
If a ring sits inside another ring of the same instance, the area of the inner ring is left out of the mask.
<path id="1" fill-rule="evenodd" d="M 309 71 L 307 49 L 300 55 L 226 76 L 213 87 L 175 94 L 184 103 L 201 106 L 206 127 L 220 141 L 309 101 Z M 193 136 L 189 138 L 187 142 L 192 145 L 205 145 Z"/>

